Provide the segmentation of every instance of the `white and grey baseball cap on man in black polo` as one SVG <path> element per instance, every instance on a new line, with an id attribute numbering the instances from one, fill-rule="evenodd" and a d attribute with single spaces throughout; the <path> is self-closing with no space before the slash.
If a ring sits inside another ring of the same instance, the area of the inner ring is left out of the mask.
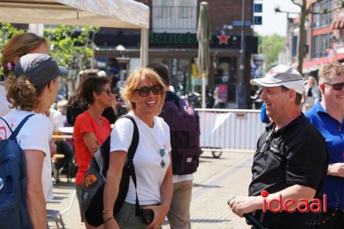
<path id="1" fill-rule="evenodd" d="M 301 95 L 305 90 L 304 80 L 301 74 L 287 65 L 272 67 L 264 78 L 250 80 L 250 84 L 260 85 L 262 87 L 284 86 L 288 89 L 294 89 Z"/>

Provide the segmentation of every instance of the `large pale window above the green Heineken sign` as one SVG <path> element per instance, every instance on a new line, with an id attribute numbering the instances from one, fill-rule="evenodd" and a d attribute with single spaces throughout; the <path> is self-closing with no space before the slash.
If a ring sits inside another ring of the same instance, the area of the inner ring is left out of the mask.
<path id="1" fill-rule="evenodd" d="M 153 32 L 195 33 L 197 0 L 153 0 Z"/>

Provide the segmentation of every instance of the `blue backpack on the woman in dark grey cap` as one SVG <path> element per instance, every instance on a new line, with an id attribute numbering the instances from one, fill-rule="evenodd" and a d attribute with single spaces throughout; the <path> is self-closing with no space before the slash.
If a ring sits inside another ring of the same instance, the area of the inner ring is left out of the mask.
<path id="1" fill-rule="evenodd" d="M 34 114 L 26 116 L 12 131 L 0 140 L 0 229 L 31 229 L 26 203 L 26 170 L 24 152 L 17 142 L 17 135 L 25 122 Z"/>

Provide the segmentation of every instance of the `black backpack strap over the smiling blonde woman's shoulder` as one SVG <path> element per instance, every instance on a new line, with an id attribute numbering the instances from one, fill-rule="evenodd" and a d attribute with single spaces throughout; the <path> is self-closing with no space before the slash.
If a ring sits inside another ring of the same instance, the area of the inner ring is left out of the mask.
<path id="1" fill-rule="evenodd" d="M 138 125 L 136 124 L 133 116 L 125 115 L 125 116 L 122 116 L 121 118 L 128 118 L 129 120 L 131 120 L 131 122 L 133 122 L 133 138 L 131 140 L 131 144 L 128 150 L 127 168 L 129 170 L 129 174 L 131 175 L 131 179 L 133 179 L 133 184 L 135 186 L 135 193 L 136 193 L 135 215 L 140 216 L 140 203 L 138 201 L 138 191 L 137 191 L 138 188 L 136 184 L 136 173 L 135 173 L 135 168 L 133 166 L 133 156 L 136 153 L 136 149 L 138 149 L 138 140 L 139 140 Z"/>

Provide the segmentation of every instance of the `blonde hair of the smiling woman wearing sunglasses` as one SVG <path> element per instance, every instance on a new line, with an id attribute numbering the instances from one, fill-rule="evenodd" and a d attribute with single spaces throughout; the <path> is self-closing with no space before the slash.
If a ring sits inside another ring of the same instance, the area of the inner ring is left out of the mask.
<path id="1" fill-rule="evenodd" d="M 135 94 L 138 85 L 140 84 L 140 80 L 145 78 L 153 85 L 159 85 L 161 87 L 161 100 L 160 105 L 158 108 L 157 113 L 155 116 L 158 116 L 162 110 L 162 106 L 164 105 L 165 100 L 165 85 L 162 82 L 160 76 L 154 72 L 149 67 L 142 67 L 140 69 L 136 69 L 133 71 L 130 76 L 127 78 L 127 85 L 125 88 L 120 89 L 120 96 L 125 100 L 125 103 L 129 107 L 130 111 L 135 111 L 136 105 L 135 102 L 131 102 L 131 98 L 133 98 L 133 94 Z"/>

